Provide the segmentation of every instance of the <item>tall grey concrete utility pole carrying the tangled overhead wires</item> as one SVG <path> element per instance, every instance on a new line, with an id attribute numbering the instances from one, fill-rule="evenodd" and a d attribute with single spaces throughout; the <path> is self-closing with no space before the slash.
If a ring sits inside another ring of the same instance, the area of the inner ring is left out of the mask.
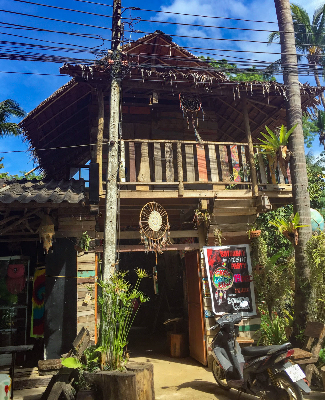
<path id="1" fill-rule="evenodd" d="M 113 2 L 112 47 L 119 51 L 121 42 L 121 0 Z M 114 59 L 114 53 L 112 55 Z M 117 171 L 118 171 L 118 135 L 119 135 L 119 76 L 112 77 L 109 109 L 109 150 L 107 155 L 107 177 L 105 196 L 105 224 L 103 250 L 103 278 L 113 273 L 116 260 L 116 222 L 117 222 Z"/>

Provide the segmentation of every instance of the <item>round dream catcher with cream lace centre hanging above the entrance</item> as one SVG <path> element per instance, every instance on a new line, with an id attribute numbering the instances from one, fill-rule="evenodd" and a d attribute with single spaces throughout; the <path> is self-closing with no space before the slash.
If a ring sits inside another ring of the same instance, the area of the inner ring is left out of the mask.
<path id="1" fill-rule="evenodd" d="M 150 202 L 143 206 L 140 212 L 141 243 L 145 245 L 145 251 L 163 253 L 170 244 L 170 226 L 166 210 L 156 202 Z"/>

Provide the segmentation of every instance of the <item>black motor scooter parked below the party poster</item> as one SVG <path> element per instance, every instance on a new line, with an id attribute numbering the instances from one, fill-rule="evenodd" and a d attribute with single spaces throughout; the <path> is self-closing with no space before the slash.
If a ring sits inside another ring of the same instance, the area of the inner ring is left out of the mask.
<path id="1" fill-rule="evenodd" d="M 245 300 L 240 308 L 245 308 Z M 212 373 L 218 385 L 237 389 L 262 400 L 303 400 L 301 390 L 309 394 L 305 374 L 290 362 L 291 343 L 281 346 L 240 348 L 236 337 L 242 319 L 240 314 L 224 314 L 211 330 L 218 329 L 210 345 L 214 357 Z"/>

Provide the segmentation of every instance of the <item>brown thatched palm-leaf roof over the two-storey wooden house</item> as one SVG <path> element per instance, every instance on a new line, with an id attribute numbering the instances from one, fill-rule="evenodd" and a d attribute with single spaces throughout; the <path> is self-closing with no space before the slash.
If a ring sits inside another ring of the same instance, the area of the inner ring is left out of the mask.
<path id="1" fill-rule="evenodd" d="M 281 124 L 286 125 L 284 84 L 231 82 L 222 73 L 212 73 L 210 70 L 205 73 L 206 64 L 179 46 L 173 46 L 168 51 L 168 46 L 155 47 L 155 44 L 164 41 L 172 43 L 164 34 L 148 35 L 133 42 L 126 51 L 146 55 L 150 54 L 150 49 L 152 54 L 177 53 L 182 56 L 179 62 L 180 65 L 184 64 L 184 70 L 173 69 L 174 61 L 173 66 L 166 69 L 168 65 L 164 60 L 162 68 L 156 70 L 144 67 L 132 69 L 131 75 L 125 76 L 122 82 L 124 101 L 136 102 L 137 99 L 146 96 L 149 98 L 152 92 L 158 92 L 159 99 L 162 99 L 162 102 L 159 100 L 159 105 L 165 104 L 170 110 L 181 112 L 178 98 L 180 92 L 200 94 L 203 110 L 214 115 L 212 128 L 200 132 L 203 140 L 231 139 L 234 142 L 246 142 L 241 102 L 243 96 L 248 99 L 253 138 L 257 138 L 265 125 L 271 129 Z M 184 61 L 185 57 L 188 57 L 188 61 Z M 194 64 L 195 71 L 191 70 Z M 200 68 L 202 70 L 199 70 Z M 46 174 L 55 179 L 66 176 L 68 165 L 84 164 L 90 159 L 91 146 L 69 146 L 91 144 L 91 128 L 96 124 L 93 120 L 94 114 L 91 114 L 91 110 L 97 104 L 95 88 L 97 85 L 101 85 L 103 89 L 108 88 L 110 81 L 108 72 L 98 72 L 91 66 L 65 64 L 60 71 L 73 76 L 73 79 L 44 100 L 20 123 L 31 149 L 44 149 L 34 152 L 34 156 Z M 319 106 L 317 96 L 321 91 L 323 88 L 300 85 L 303 111 Z M 109 98 L 105 100 L 108 101 Z M 108 109 L 105 111 L 108 112 Z M 172 130 L 172 126 L 170 129 Z M 50 150 L 56 147 L 60 149 Z"/>

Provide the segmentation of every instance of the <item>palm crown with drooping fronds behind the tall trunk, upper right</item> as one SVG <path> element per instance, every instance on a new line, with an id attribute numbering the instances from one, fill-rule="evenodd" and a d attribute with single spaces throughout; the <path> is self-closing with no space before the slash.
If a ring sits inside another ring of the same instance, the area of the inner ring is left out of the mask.
<path id="1" fill-rule="evenodd" d="M 309 70 L 313 71 L 316 84 L 321 88 L 319 80 L 319 67 L 322 68 L 322 75 L 325 76 L 325 2 L 320 4 L 314 11 L 313 20 L 310 22 L 307 11 L 291 4 L 291 16 L 295 31 L 295 46 L 297 51 L 297 63 L 301 63 L 303 57 L 307 58 Z M 273 42 L 280 42 L 279 32 L 272 32 L 269 36 L 268 45 Z M 274 71 L 282 70 L 282 60 L 276 60 L 266 68 L 264 78 L 267 79 Z M 321 93 L 321 101 L 325 108 L 325 96 Z"/>

